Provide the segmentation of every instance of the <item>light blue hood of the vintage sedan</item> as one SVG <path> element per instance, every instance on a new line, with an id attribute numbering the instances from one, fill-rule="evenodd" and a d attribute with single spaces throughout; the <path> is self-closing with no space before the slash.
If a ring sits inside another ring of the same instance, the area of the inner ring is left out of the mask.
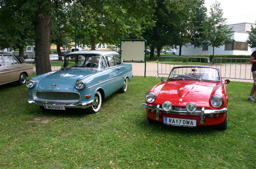
<path id="1" fill-rule="evenodd" d="M 45 76 L 38 85 L 37 90 L 74 91 L 77 79 L 94 74 L 95 70 L 61 69 Z M 52 86 L 54 85 L 54 86 Z"/>

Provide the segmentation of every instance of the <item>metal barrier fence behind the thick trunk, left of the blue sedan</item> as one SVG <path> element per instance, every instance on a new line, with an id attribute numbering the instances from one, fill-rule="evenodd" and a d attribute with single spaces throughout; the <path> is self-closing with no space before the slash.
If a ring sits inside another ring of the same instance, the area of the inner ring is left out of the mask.
<path id="1" fill-rule="evenodd" d="M 36 72 L 36 60 L 35 57 L 18 57 L 22 63 L 30 63 L 34 65 L 34 71 Z M 62 63 L 63 63 L 64 57 L 63 56 L 50 56 L 50 64 L 52 67 L 52 71 L 59 70 Z"/>

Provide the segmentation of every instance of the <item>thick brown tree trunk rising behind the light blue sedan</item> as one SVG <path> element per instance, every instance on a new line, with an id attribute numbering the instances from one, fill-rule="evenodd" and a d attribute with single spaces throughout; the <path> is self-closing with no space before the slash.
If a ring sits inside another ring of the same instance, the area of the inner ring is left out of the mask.
<path id="1" fill-rule="evenodd" d="M 41 0 L 36 11 L 36 74 L 51 72 L 50 63 L 50 10 L 51 0 Z"/>

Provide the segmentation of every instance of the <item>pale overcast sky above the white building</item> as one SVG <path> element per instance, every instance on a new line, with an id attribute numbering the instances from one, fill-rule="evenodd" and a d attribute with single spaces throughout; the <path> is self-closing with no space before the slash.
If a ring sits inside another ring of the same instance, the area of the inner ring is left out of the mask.
<path id="1" fill-rule="evenodd" d="M 227 24 L 238 24 L 243 22 L 255 23 L 256 20 L 256 0 L 218 0 L 222 8 L 223 18 L 227 18 Z M 210 11 L 210 5 L 215 0 L 205 0 L 204 6 L 207 12 Z"/>

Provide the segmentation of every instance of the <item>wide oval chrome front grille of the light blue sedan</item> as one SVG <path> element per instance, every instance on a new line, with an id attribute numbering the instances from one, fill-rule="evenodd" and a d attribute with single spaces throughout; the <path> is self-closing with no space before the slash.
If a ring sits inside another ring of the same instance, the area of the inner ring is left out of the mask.
<path id="1" fill-rule="evenodd" d="M 66 91 L 36 91 L 33 98 L 46 102 L 79 102 L 81 99 L 79 93 Z"/>

